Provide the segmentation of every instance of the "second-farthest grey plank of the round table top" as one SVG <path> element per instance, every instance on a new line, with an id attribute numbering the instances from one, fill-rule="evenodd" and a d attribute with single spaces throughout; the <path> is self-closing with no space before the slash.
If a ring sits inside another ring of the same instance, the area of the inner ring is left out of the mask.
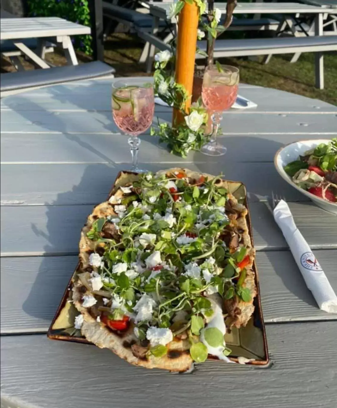
<path id="1" fill-rule="evenodd" d="M 107 107 L 109 109 L 109 105 Z M 156 111 L 160 121 L 171 122 L 172 113 Z M 328 115 L 301 115 L 287 113 L 255 113 L 255 115 L 240 114 L 228 111 L 224 114 L 222 128 L 225 134 L 249 133 L 336 133 L 337 117 L 334 113 Z M 120 133 L 113 122 L 111 111 L 95 111 L 90 115 L 86 111 L 1 111 L 2 133 Z M 153 122 L 156 123 L 156 118 Z"/>

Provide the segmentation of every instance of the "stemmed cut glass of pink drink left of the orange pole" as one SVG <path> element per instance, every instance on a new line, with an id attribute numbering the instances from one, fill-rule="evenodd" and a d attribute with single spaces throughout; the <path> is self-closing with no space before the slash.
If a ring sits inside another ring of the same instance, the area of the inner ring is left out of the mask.
<path id="1" fill-rule="evenodd" d="M 112 85 L 112 114 L 115 124 L 126 135 L 132 155 L 131 171 L 143 173 L 138 168 L 138 150 L 143 133 L 152 124 L 155 109 L 153 84 L 142 78 L 124 78 Z"/>

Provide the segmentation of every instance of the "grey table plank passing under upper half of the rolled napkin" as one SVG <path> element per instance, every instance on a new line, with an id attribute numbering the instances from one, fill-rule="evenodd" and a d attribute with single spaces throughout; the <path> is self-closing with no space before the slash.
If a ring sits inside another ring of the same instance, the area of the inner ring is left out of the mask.
<path id="1" fill-rule="evenodd" d="M 93 206 L 53 204 L 2 206 L 1 256 L 77 255 L 80 230 Z M 312 249 L 337 248 L 335 215 L 310 203 L 290 202 L 289 207 Z M 288 248 L 268 203 L 252 202 L 249 208 L 255 248 L 258 251 Z"/>

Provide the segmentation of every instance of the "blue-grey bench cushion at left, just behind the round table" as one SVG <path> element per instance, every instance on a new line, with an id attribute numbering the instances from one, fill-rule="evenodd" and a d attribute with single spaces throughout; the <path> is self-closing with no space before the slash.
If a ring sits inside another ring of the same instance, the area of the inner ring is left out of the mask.
<path id="1" fill-rule="evenodd" d="M 100 61 L 93 61 L 67 67 L 2 73 L 0 75 L 1 91 L 13 91 L 15 89 L 30 88 L 32 86 L 96 78 L 109 75 L 113 72 L 115 72 L 115 70 L 113 67 L 110 67 L 110 65 Z"/>

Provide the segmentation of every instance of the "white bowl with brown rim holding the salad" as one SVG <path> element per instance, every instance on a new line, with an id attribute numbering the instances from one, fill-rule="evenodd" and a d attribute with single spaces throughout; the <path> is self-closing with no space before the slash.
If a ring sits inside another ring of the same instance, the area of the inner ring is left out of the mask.
<path id="1" fill-rule="evenodd" d="M 279 175 L 281 175 L 282 178 L 284 178 L 284 180 L 286 180 L 286 182 L 288 182 L 302 194 L 309 197 L 310 200 L 312 200 L 319 207 L 323 208 L 326 211 L 329 211 L 330 213 L 337 214 L 336 203 L 323 200 L 323 198 L 317 197 L 316 195 L 308 193 L 308 191 L 304 190 L 303 188 L 298 187 L 293 182 L 293 180 L 291 180 L 291 177 L 288 176 L 288 174 L 284 171 L 284 166 L 286 166 L 286 164 L 290 162 L 293 162 L 294 160 L 298 160 L 299 155 L 303 155 L 304 152 L 313 149 L 321 143 L 326 144 L 330 141 L 330 139 L 301 140 L 299 142 L 287 144 L 286 146 L 279 149 L 275 154 L 274 164 L 277 172 L 279 173 Z"/>

